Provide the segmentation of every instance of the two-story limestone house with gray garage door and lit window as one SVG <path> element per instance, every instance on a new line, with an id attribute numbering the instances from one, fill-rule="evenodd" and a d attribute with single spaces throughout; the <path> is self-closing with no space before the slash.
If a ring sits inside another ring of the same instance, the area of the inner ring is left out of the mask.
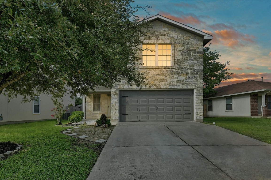
<path id="1" fill-rule="evenodd" d="M 155 15 L 149 37 L 142 37 L 139 89 L 123 79 L 114 88 L 97 87 L 86 97 L 86 119 L 104 113 L 112 122 L 203 121 L 203 46 L 212 35 Z"/>

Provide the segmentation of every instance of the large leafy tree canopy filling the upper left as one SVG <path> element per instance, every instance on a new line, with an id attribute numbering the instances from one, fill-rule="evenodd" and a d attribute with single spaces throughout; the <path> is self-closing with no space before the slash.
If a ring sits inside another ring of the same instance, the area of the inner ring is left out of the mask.
<path id="1" fill-rule="evenodd" d="M 131 0 L 0 0 L 0 94 L 88 94 L 125 77 L 140 86 L 136 55 L 149 24 Z M 30 97 L 30 98 L 29 98 Z"/>

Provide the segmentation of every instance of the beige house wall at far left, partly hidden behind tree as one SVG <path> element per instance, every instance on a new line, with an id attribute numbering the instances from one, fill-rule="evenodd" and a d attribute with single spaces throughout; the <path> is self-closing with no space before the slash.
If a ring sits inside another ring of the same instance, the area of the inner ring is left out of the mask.
<path id="1" fill-rule="evenodd" d="M 3 121 L 0 124 L 12 124 L 23 122 L 43 121 L 47 119 L 55 119 L 51 117 L 54 111 L 51 109 L 54 107 L 51 95 L 41 94 L 37 97 L 37 101 L 30 103 L 23 103 L 22 96 L 8 100 L 7 96 L 0 95 L 0 112 L 3 116 Z M 75 105 L 75 98 L 73 100 L 70 95 L 65 94 L 63 96 L 63 104 L 67 106 L 69 104 Z"/>

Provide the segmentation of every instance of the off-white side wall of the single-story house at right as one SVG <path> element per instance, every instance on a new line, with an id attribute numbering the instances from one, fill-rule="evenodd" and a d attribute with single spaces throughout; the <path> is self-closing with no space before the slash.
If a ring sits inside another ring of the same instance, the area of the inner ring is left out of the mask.
<path id="1" fill-rule="evenodd" d="M 232 97 L 233 111 L 226 111 L 226 98 Z M 205 99 L 204 104 L 207 105 Z M 250 94 L 241 94 L 234 96 L 226 96 L 220 98 L 212 98 L 213 100 L 213 111 L 208 111 L 207 117 L 214 116 L 250 116 Z"/>

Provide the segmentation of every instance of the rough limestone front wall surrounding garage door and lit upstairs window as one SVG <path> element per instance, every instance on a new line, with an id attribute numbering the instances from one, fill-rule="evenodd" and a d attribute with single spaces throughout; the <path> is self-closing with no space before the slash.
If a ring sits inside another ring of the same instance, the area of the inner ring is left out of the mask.
<path id="1" fill-rule="evenodd" d="M 171 44 L 172 66 L 140 66 L 146 83 L 141 89 L 194 89 L 195 120 L 203 121 L 203 39 L 161 21 L 151 23 L 143 44 Z M 139 51 L 142 62 L 142 51 Z M 123 79 L 111 89 L 111 121 L 119 121 L 119 89 L 139 89 Z"/>

